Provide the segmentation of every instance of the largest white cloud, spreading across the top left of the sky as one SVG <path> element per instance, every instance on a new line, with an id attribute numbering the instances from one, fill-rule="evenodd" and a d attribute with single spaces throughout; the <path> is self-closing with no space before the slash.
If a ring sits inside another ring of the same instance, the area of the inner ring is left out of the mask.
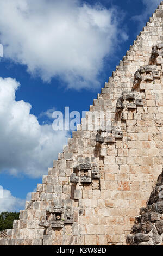
<path id="1" fill-rule="evenodd" d="M 80 0 L 1 0 L 4 57 L 45 81 L 57 77 L 69 88 L 95 88 L 104 58 L 128 38 L 123 16 Z"/>

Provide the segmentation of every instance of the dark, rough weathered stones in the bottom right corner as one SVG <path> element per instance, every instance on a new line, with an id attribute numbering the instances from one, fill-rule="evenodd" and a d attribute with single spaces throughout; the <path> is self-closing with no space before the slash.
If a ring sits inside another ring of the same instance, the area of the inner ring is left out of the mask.
<path id="1" fill-rule="evenodd" d="M 129 245 L 159 245 L 163 233 L 163 171 L 157 184 L 151 192 L 146 208 L 140 209 L 140 215 L 135 218 L 131 234 L 127 236 Z"/>

